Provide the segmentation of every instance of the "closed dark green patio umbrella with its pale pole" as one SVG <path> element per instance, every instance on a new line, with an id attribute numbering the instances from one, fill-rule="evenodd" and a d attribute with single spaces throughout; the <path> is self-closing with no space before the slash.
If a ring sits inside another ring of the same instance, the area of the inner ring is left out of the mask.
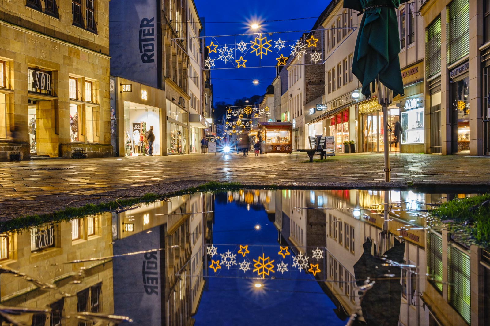
<path id="1" fill-rule="evenodd" d="M 392 96 L 403 95 L 400 72 L 400 38 L 395 8 L 408 0 L 343 0 L 343 7 L 363 12 L 359 25 L 352 73 L 362 83 L 361 92 L 371 97 L 371 83 L 378 87 L 378 101 L 383 106 L 385 124 L 385 181 L 390 181 L 387 107 Z M 385 87 L 382 87 L 383 84 Z M 388 89 L 392 90 L 392 96 Z"/>

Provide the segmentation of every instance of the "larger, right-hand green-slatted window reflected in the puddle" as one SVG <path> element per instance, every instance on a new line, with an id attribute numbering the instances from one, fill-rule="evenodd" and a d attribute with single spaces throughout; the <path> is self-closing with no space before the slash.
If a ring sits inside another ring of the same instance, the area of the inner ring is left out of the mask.
<path id="1" fill-rule="evenodd" d="M 448 251 L 448 301 L 471 324 L 471 286 L 469 256 L 455 247 Z"/>

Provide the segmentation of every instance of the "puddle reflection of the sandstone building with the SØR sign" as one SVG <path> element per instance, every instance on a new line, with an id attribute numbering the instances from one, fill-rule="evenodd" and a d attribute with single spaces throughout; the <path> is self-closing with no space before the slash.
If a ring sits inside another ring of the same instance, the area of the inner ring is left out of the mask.
<path id="1" fill-rule="evenodd" d="M 7 250 L 2 248 L 1 265 L 56 286 L 43 289 L 24 277 L 1 273 L 2 305 L 49 308 L 47 313 L 21 314 L 13 320 L 26 325 L 44 325 L 47 321 L 56 325 L 77 312 L 114 313 L 112 261 L 66 264 L 74 259 L 112 255 L 111 244 L 106 241 L 110 219 L 110 214 L 84 217 L 2 238 Z"/>

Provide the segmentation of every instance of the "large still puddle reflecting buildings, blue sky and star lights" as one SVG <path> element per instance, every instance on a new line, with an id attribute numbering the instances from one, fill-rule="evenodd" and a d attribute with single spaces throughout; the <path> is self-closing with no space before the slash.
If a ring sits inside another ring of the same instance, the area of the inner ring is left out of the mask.
<path id="1" fill-rule="evenodd" d="M 490 325 L 490 253 L 414 191 L 200 193 L 0 238 L 1 325 Z"/>

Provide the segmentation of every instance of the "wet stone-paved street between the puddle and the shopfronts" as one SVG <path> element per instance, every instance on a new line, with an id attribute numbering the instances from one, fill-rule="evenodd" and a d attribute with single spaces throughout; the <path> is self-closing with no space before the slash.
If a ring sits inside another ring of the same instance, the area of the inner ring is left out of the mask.
<path id="1" fill-rule="evenodd" d="M 82 206 L 117 196 L 166 194 L 207 181 L 303 188 L 403 187 L 413 182 L 490 191 L 490 157 L 392 154 L 390 184 L 383 182 L 383 154 L 341 154 L 303 163 L 307 159 L 305 153 L 293 153 L 2 162 L 0 219 L 50 213 L 73 200 L 71 206 Z"/>

